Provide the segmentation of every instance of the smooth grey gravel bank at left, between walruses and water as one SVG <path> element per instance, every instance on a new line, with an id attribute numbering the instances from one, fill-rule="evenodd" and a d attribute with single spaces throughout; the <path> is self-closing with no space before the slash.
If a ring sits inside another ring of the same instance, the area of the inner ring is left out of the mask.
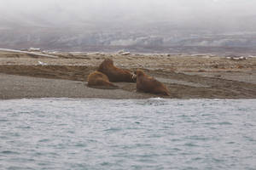
<path id="1" fill-rule="evenodd" d="M 88 88 L 85 82 L 0 74 L 0 99 L 103 98 L 143 99 L 148 96 L 122 89 Z"/>

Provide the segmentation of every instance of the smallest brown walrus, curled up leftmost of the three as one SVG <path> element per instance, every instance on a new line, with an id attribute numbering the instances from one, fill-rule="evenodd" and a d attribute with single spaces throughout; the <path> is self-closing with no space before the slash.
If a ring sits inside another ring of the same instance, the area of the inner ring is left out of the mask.
<path id="1" fill-rule="evenodd" d="M 87 85 L 90 88 L 119 88 L 112 82 L 109 82 L 108 77 L 100 71 L 90 73 L 90 75 L 87 77 L 87 82 Z"/>

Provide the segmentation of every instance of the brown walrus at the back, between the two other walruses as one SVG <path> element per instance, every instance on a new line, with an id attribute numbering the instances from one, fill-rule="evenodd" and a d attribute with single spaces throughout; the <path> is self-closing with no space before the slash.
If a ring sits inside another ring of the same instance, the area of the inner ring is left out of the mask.
<path id="1" fill-rule="evenodd" d="M 120 69 L 113 65 L 112 59 L 105 59 L 97 71 L 108 76 L 110 82 L 136 82 L 136 75 L 129 70 Z"/>

